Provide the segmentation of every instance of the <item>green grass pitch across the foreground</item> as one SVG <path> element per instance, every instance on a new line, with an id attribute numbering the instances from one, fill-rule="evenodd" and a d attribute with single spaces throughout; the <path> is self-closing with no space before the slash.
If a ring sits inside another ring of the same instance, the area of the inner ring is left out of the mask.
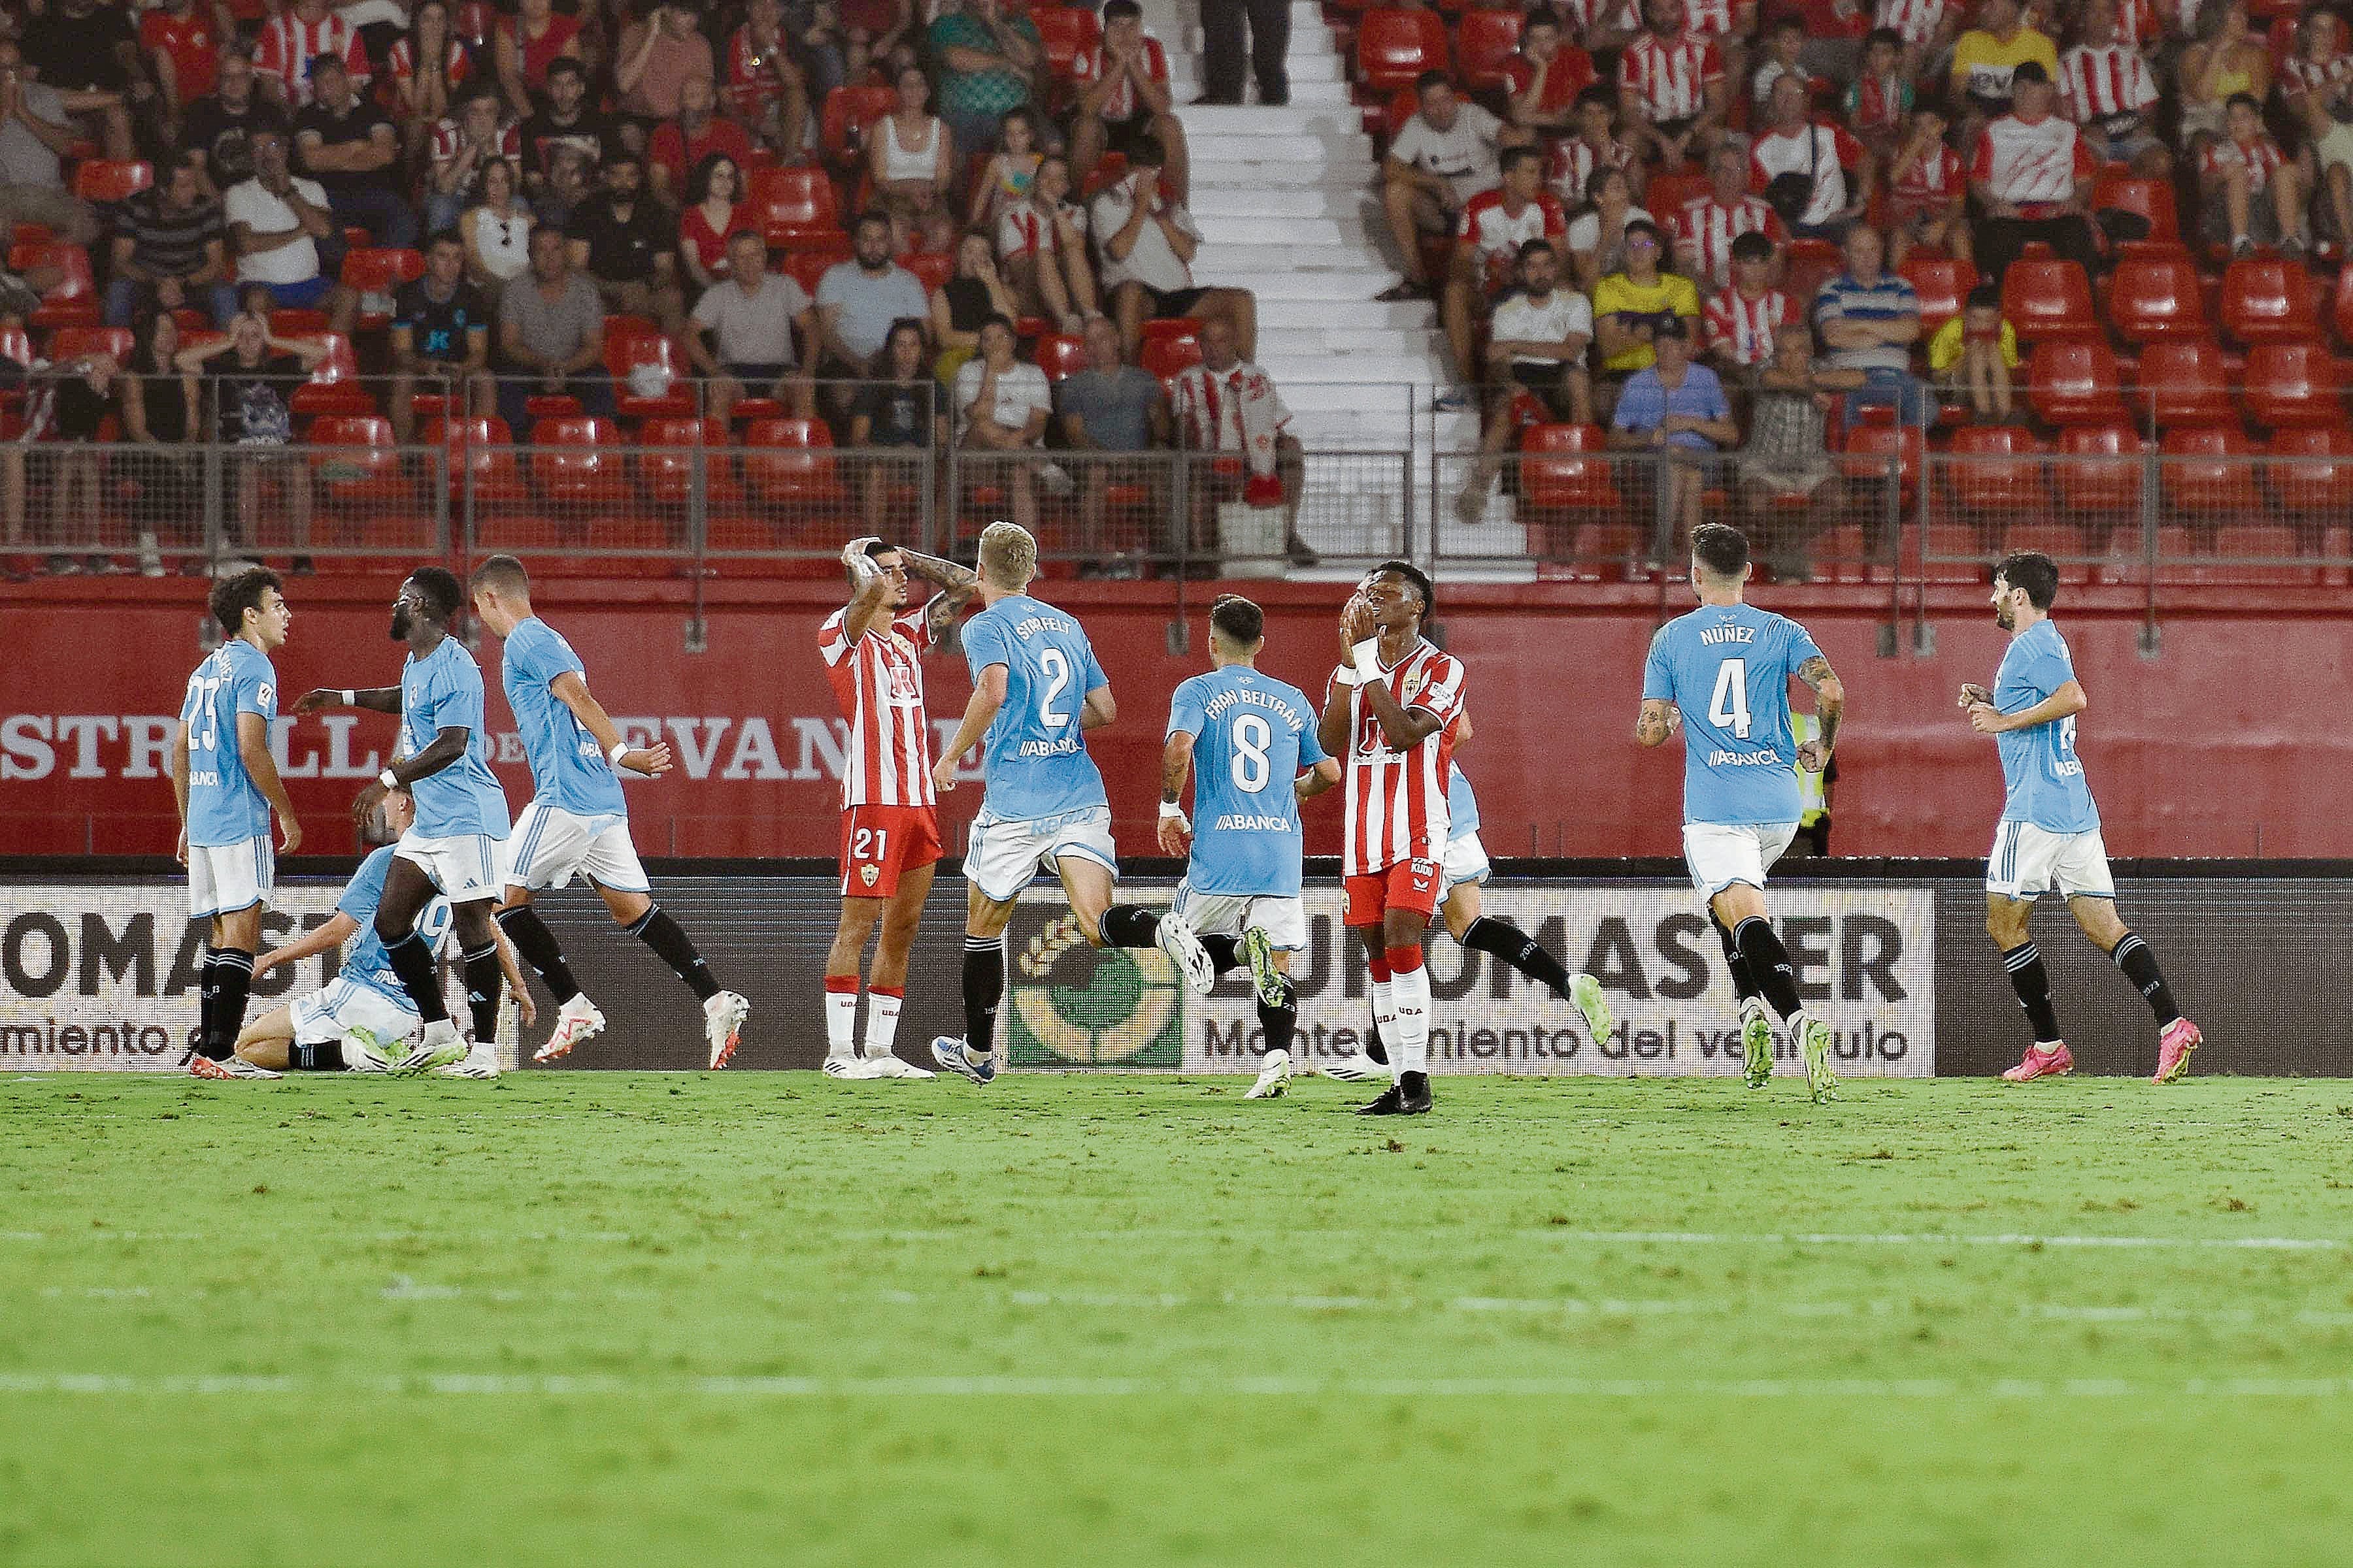
<path id="1" fill-rule="evenodd" d="M 2353 1556 L 2353 1084 L 1245 1086 L 5 1081 L 0 1563 Z"/>

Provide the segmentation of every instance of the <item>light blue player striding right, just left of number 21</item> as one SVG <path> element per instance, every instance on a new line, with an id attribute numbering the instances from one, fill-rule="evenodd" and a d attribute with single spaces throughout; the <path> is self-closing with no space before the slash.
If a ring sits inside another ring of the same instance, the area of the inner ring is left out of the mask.
<path id="1" fill-rule="evenodd" d="M 701 1001 L 711 1067 L 725 1067 L 751 1001 L 720 990 L 685 929 L 654 903 L 638 846 L 628 837 L 621 769 L 661 778 L 671 771 L 671 748 L 659 741 L 633 748 L 621 738 L 621 726 L 605 705 L 588 696 L 588 668 L 579 654 L 562 632 L 532 614 L 532 578 L 522 562 L 492 555 L 473 569 L 468 590 L 475 618 L 506 644 L 499 684 L 506 686 L 506 705 L 515 710 L 522 755 L 532 764 L 532 804 L 515 818 L 508 839 L 506 900 L 499 907 L 506 940 L 555 997 L 555 1030 L 532 1060 L 553 1063 L 605 1032 L 605 1013 L 581 992 L 562 945 L 532 907 L 534 893 L 586 877 L 614 924 L 652 947 Z"/>

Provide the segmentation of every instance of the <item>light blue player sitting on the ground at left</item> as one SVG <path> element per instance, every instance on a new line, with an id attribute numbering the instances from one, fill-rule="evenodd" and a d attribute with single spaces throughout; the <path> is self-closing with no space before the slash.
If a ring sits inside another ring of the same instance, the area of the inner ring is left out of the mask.
<path id="1" fill-rule="evenodd" d="M 384 797 L 384 825 L 393 835 L 407 832 L 412 820 L 416 820 L 416 802 L 409 799 L 407 790 L 393 790 Z M 245 1025 L 245 1032 L 238 1034 L 240 1060 L 268 1072 L 391 1072 L 393 1053 L 424 1027 L 416 1004 L 409 1001 L 391 959 L 384 957 L 384 943 L 376 940 L 376 905 L 384 900 L 384 877 L 391 865 L 393 846 L 386 844 L 360 860 L 360 870 L 344 884 L 344 896 L 334 900 L 334 914 L 327 924 L 261 954 L 261 961 L 254 964 L 256 976 L 332 952 L 353 936 L 360 938 L 334 980 Z M 449 936 L 449 900 L 435 898 L 416 917 L 416 936 L 426 940 L 428 950 L 440 952 Z M 522 987 L 522 971 L 515 969 L 515 954 L 504 943 L 499 945 L 499 966 L 506 971 L 506 983 L 515 987 L 522 1023 L 529 1025 L 532 994 Z"/>

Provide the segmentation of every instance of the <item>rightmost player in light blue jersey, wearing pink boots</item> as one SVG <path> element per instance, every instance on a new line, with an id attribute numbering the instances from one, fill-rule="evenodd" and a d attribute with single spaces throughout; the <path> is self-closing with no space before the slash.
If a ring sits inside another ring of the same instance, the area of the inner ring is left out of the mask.
<path id="1" fill-rule="evenodd" d="M 1986 858 L 1986 936 L 2002 950 L 2009 985 L 2019 992 L 2035 1039 L 2026 1058 L 2002 1072 L 2012 1084 L 2057 1077 L 2075 1067 L 2059 1039 L 2052 978 L 2026 931 L 2035 898 L 2057 889 L 2085 936 L 2106 952 L 2158 1016 L 2158 1084 L 2181 1079 L 2205 1037 L 2174 1006 L 2158 954 L 2115 914 L 2115 879 L 2099 837 L 2099 806 L 2075 757 L 2075 715 L 2089 698 L 2075 679 L 2066 637 L 2052 625 L 2059 567 L 2047 555 L 2012 555 L 1993 569 L 1993 621 L 2009 632 L 2009 649 L 1993 691 L 1967 684 L 1960 705 L 1969 729 L 1993 736 L 2002 755 L 2002 823 Z"/>

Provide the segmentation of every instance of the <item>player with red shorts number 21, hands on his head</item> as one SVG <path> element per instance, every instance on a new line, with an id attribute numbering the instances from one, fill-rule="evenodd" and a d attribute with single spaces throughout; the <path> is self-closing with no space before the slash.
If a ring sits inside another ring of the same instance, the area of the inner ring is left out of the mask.
<path id="1" fill-rule="evenodd" d="M 939 863 L 939 795 L 932 790 L 932 722 L 922 708 L 920 654 L 962 614 L 979 588 L 972 571 L 880 538 L 842 548 L 849 604 L 816 628 L 826 679 L 849 719 L 842 769 L 842 919 L 826 954 L 826 1072 L 838 1079 L 927 1079 L 899 1060 L 906 959 Z M 939 585 L 908 609 L 908 576 Z M 882 926 L 866 971 L 866 1051 L 856 1048 L 859 959 Z"/>

